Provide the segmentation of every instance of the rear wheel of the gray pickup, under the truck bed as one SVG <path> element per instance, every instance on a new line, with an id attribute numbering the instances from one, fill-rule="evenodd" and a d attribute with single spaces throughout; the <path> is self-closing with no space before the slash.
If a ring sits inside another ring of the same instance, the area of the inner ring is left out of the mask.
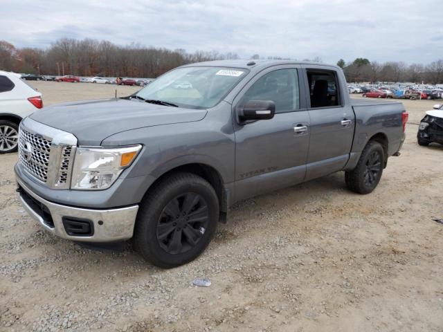
<path id="1" fill-rule="evenodd" d="M 379 142 L 371 140 L 361 152 L 359 163 L 345 172 L 346 186 L 352 192 L 369 194 L 379 184 L 385 163 L 385 153 Z"/>

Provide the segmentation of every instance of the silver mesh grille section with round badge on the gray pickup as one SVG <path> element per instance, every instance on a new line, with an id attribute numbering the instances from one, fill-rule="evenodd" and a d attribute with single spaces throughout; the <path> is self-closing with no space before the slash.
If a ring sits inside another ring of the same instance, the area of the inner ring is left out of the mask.
<path id="1" fill-rule="evenodd" d="M 49 154 L 51 140 L 30 133 L 20 127 L 19 131 L 19 160 L 24 169 L 46 183 L 48 179 Z"/>

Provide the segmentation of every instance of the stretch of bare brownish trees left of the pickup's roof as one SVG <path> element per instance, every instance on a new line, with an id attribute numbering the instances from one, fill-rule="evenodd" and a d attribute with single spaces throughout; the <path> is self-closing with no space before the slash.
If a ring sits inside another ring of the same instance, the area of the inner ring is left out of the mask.
<path id="1" fill-rule="evenodd" d="M 239 59 L 235 53 L 117 46 L 95 39 L 58 39 L 49 48 L 16 48 L 0 40 L 0 69 L 39 75 L 158 77 L 172 68 L 213 59 Z"/>

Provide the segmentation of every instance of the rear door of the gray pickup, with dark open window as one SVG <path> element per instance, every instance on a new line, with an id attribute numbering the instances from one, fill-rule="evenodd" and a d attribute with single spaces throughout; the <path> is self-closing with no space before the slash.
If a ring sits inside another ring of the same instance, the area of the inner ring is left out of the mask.
<path id="1" fill-rule="evenodd" d="M 337 172 L 349 159 L 354 138 L 354 111 L 348 100 L 343 73 L 333 67 L 305 65 L 302 71 L 310 131 L 306 180 Z M 340 75 L 340 76 L 339 76 Z"/>

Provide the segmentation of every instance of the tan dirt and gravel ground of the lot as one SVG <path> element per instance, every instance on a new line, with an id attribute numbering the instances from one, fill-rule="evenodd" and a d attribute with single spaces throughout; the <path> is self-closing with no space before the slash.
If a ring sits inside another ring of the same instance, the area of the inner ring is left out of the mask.
<path id="1" fill-rule="evenodd" d="M 46 105 L 136 90 L 31 84 Z M 443 147 L 415 140 L 435 102 L 404 104 L 406 144 L 372 194 L 338 173 L 244 201 L 173 270 L 47 234 L 15 196 L 17 154 L 0 156 L 0 330 L 443 331 Z"/>

